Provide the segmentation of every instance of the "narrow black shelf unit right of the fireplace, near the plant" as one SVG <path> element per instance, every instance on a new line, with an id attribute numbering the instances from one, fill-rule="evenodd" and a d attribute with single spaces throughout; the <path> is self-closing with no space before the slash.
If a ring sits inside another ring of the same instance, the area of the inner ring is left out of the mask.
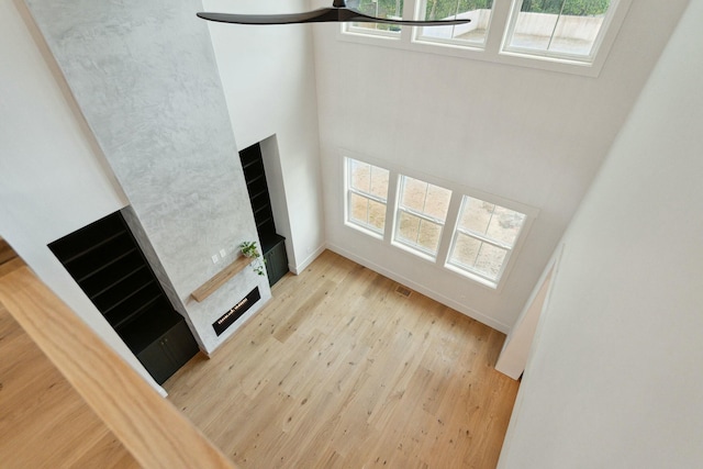
<path id="1" fill-rule="evenodd" d="M 276 221 L 271 209 L 271 199 L 266 182 L 266 169 L 259 144 L 239 152 L 249 203 L 254 213 L 256 231 L 261 242 L 261 256 L 266 263 L 266 272 L 270 286 L 288 272 L 286 238 L 276 232 Z"/>

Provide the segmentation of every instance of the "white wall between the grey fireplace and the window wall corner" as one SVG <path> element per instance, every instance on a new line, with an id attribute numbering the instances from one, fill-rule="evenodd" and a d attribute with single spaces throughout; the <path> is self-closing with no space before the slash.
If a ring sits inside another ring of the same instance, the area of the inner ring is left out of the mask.
<path id="1" fill-rule="evenodd" d="M 203 8 L 270 14 L 305 11 L 308 2 L 204 0 Z M 237 147 L 275 136 L 263 145 L 263 153 L 276 227 L 287 238 L 291 269 L 300 271 L 325 243 L 314 26 L 209 26 Z"/>

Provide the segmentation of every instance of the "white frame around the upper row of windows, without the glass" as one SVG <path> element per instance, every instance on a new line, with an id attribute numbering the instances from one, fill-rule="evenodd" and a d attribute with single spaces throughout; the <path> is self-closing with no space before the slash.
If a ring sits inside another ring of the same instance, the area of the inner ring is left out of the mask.
<path id="1" fill-rule="evenodd" d="M 421 13 L 423 0 L 404 0 L 403 18 L 415 19 Z M 494 0 L 491 13 L 491 21 L 487 30 L 487 37 L 483 46 L 470 43 L 457 44 L 457 42 L 435 42 L 423 41 L 419 37 L 417 27 L 402 26 L 400 35 L 392 37 L 382 34 L 367 33 L 362 31 L 346 31 L 347 26 L 342 23 L 337 30 L 339 41 L 367 44 L 381 47 L 400 48 L 426 54 L 439 54 L 453 57 L 461 57 L 477 60 L 486 60 L 520 67 L 538 68 L 565 74 L 573 74 L 587 77 L 598 77 L 610 54 L 610 49 L 617 36 L 633 0 L 613 0 L 615 5 L 611 7 L 606 20 L 599 34 L 599 43 L 594 45 L 595 52 L 589 60 L 582 57 L 544 55 L 514 51 L 505 48 L 509 33 L 509 23 L 513 21 L 512 12 L 522 4 L 522 0 Z"/>

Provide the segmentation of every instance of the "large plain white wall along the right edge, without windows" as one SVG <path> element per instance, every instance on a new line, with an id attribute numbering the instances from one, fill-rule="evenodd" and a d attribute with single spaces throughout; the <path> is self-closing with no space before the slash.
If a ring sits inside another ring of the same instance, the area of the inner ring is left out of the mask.
<path id="1" fill-rule="evenodd" d="M 703 2 L 565 236 L 502 468 L 703 466 Z"/>

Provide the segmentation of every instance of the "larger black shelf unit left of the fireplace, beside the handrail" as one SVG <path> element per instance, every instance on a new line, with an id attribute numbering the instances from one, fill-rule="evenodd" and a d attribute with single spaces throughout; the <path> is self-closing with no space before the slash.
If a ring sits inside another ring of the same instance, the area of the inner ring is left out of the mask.
<path id="1" fill-rule="evenodd" d="M 198 353 L 120 212 L 48 247 L 157 382 Z"/>

